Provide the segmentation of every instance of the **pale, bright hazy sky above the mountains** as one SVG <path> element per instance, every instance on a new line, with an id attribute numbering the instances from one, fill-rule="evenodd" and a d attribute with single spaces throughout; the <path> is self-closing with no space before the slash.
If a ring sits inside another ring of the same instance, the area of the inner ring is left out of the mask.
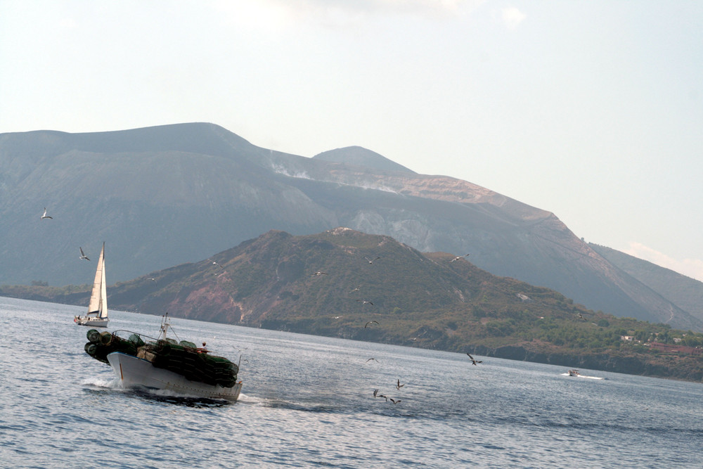
<path id="1" fill-rule="evenodd" d="M 703 281 L 701 25 L 689 0 L 0 0 L 0 133 L 362 146 Z"/>

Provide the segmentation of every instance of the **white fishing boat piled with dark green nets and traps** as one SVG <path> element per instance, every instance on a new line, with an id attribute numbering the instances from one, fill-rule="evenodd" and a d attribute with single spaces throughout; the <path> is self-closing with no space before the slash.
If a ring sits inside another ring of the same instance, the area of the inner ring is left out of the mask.
<path id="1" fill-rule="evenodd" d="M 85 351 L 110 364 L 124 389 L 236 401 L 242 390 L 242 382 L 237 380 L 239 365 L 210 354 L 205 342 L 197 347 L 193 342 L 167 337 L 170 328 L 164 316 L 156 339 L 126 330 L 108 333 L 91 329 L 86 333 L 89 342 Z M 127 339 L 120 337 L 127 334 Z"/>

